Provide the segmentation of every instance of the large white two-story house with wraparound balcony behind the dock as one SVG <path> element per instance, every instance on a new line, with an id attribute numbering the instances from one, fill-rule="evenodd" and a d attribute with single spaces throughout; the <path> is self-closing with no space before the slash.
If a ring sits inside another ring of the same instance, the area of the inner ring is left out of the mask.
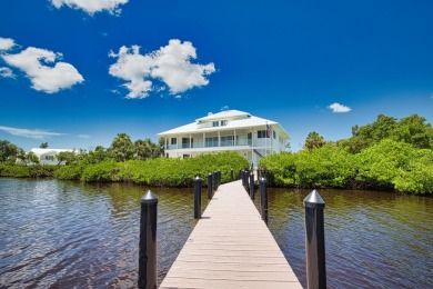
<path id="1" fill-rule="evenodd" d="M 190 124 L 158 133 L 168 158 L 238 151 L 258 165 L 269 153 L 285 150 L 289 134 L 280 123 L 239 110 L 209 113 Z"/>

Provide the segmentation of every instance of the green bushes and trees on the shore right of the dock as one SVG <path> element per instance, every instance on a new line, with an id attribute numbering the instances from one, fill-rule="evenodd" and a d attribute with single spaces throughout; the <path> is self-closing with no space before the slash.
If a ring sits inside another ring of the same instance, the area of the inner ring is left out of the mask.
<path id="1" fill-rule="evenodd" d="M 353 126 L 348 139 L 326 141 L 312 131 L 303 150 L 271 155 L 260 166 L 271 186 L 433 193 L 433 128 L 417 114 L 379 114 Z"/>

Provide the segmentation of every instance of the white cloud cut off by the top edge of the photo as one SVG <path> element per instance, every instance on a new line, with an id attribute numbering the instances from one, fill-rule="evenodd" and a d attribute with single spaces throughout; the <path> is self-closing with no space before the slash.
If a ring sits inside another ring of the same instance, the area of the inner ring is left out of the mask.
<path id="1" fill-rule="evenodd" d="M 111 14 L 120 14 L 121 4 L 128 3 L 129 0 L 51 0 L 52 4 L 60 9 L 63 4 L 72 9 L 81 9 L 89 14 L 107 10 Z"/>

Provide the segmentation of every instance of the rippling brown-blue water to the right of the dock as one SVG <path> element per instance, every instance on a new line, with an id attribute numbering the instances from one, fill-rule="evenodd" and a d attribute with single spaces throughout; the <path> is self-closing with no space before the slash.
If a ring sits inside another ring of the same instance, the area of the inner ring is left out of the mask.
<path id="1" fill-rule="evenodd" d="M 303 199 L 270 189 L 269 227 L 304 287 Z M 323 190 L 329 288 L 433 288 L 433 199 Z"/>

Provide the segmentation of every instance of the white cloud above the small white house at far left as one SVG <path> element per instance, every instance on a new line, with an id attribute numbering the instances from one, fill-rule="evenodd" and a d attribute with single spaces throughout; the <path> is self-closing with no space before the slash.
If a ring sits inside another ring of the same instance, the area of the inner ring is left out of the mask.
<path id="1" fill-rule="evenodd" d="M 9 66 L 24 71 L 33 89 L 54 93 L 84 81 L 83 77 L 72 64 L 61 61 L 56 62 L 61 57 L 61 53 L 29 47 L 20 53 L 6 54 L 3 59 Z M 54 66 L 47 66 L 48 63 L 53 63 Z"/>

